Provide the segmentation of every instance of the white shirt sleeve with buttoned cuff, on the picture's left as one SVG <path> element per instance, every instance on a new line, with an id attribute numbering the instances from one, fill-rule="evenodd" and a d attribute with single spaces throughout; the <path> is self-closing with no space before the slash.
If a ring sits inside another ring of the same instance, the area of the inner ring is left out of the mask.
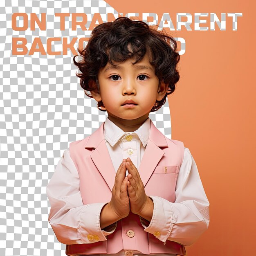
<path id="1" fill-rule="evenodd" d="M 46 186 L 51 204 L 48 222 L 61 243 L 66 245 L 95 243 L 107 240 L 116 223 L 101 230 L 100 213 L 107 203 L 84 205 L 80 193 L 79 174 L 70 157 L 69 148 L 59 160 Z"/>

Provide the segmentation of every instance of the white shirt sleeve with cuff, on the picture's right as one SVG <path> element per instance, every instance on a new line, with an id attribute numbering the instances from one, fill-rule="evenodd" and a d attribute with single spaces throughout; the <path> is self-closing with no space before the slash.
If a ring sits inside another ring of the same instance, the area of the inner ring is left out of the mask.
<path id="1" fill-rule="evenodd" d="M 209 226 L 209 201 L 188 148 L 180 166 L 175 190 L 175 202 L 149 196 L 154 203 L 150 222 L 141 218 L 141 225 L 151 234 L 158 232 L 162 242 L 175 241 L 182 245 L 193 244 Z"/>

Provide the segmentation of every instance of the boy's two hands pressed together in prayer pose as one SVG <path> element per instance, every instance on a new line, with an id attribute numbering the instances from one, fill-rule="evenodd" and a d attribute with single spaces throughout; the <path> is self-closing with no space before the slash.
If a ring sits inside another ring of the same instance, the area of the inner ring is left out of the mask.
<path id="1" fill-rule="evenodd" d="M 137 168 L 129 157 L 123 159 L 115 176 L 112 198 L 101 210 L 101 229 L 125 218 L 130 211 L 150 222 L 153 208 L 153 201 L 145 193 Z"/>

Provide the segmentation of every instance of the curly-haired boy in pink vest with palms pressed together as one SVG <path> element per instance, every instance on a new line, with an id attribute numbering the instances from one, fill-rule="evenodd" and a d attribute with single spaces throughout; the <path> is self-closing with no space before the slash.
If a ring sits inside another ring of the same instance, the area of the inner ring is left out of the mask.
<path id="1" fill-rule="evenodd" d="M 57 239 L 67 255 L 185 255 L 208 228 L 209 202 L 189 149 L 148 117 L 179 80 L 175 40 L 120 17 L 79 53 L 81 87 L 108 117 L 70 144 L 47 185 Z"/>

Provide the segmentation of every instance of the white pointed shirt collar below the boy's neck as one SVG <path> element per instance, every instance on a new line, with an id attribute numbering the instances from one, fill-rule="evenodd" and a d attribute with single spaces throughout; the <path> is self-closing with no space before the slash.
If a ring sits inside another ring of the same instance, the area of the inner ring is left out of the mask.
<path id="1" fill-rule="evenodd" d="M 115 144 L 127 135 L 132 135 L 133 133 L 137 134 L 141 143 L 145 147 L 148 143 L 148 137 L 150 132 L 150 119 L 148 119 L 134 132 L 124 132 L 121 128 L 119 128 L 116 124 L 114 124 L 110 119 L 107 117 L 104 127 L 104 138 L 108 143 L 113 147 Z"/>

